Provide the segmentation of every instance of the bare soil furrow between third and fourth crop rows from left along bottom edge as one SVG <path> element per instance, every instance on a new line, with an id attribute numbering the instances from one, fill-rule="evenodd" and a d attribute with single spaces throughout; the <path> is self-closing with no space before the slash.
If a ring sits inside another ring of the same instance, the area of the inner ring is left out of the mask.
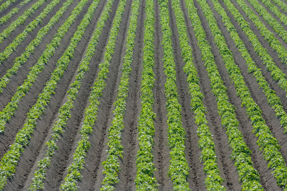
<path id="1" fill-rule="evenodd" d="M 91 147 L 85 159 L 85 168 L 82 171 L 82 180 L 79 182 L 79 187 L 83 190 L 99 190 L 101 182 L 104 178 L 102 174 L 102 162 L 106 158 L 107 143 L 107 130 L 111 125 L 113 117 L 113 103 L 116 98 L 117 86 L 120 81 L 122 58 L 125 53 L 125 42 L 129 24 L 129 16 L 131 11 L 132 1 L 127 1 L 125 11 L 122 16 L 119 33 L 117 36 L 115 50 L 116 54 L 110 62 L 109 73 L 106 79 L 106 88 L 103 92 L 103 97 L 100 99 L 98 108 L 98 117 L 95 122 L 94 130 L 90 135 Z M 103 60 L 101 60 L 102 62 Z"/>

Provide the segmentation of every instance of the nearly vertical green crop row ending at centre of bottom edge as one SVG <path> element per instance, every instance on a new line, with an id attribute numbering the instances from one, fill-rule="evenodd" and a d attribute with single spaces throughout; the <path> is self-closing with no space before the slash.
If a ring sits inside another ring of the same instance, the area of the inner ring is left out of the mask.
<path id="1" fill-rule="evenodd" d="M 154 177 L 154 118 L 153 112 L 154 93 L 154 1 L 146 0 L 146 20 L 144 21 L 144 48 L 143 69 L 141 71 L 141 112 L 139 115 L 137 130 L 139 132 L 139 150 L 137 151 L 135 176 L 136 189 L 157 190 L 156 178 Z"/>

